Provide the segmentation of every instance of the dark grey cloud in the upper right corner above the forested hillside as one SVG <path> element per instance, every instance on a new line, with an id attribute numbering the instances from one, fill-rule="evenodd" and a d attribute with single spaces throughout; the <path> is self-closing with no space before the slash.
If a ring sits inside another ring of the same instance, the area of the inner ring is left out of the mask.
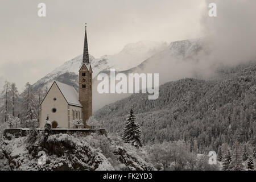
<path id="1" fill-rule="evenodd" d="M 217 5 L 217 17 L 208 13 L 202 18 L 204 34 L 210 53 L 208 59 L 214 64 L 234 65 L 256 58 L 256 1 L 207 0 Z M 210 65 L 210 64 L 209 64 Z"/>

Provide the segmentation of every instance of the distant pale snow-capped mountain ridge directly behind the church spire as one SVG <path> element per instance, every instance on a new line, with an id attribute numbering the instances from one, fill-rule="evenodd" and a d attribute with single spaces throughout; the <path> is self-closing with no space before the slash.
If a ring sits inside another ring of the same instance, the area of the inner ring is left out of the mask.
<path id="1" fill-rule="evenodd" d="M 148 59 L 155 53 L 163 51 L 167 47 L 167 43 L 165 42 L 140 41 L 127 44 L 121 52 L 115 55 L 105 55 L 100 57 L 100 59 L 95 59 L 90 55 L 89 59 L 92 64 L 93 77 L 96 77 L 99 72 L 109 70 L 110 68 L 114 68 L 117 71 L 124 71 L 126 69 L 137 67 L 142 61 Z M 37 81 L 34 84 L 34 87 L 37 89 L 44 86 L 50 86 L 53 80 L 58 79 L 63 74 L 75 78 L 81 62 L 82 55 L 65 62 L 63 65 Z M 68 80 L 65 82 L 69 83 Z"/>

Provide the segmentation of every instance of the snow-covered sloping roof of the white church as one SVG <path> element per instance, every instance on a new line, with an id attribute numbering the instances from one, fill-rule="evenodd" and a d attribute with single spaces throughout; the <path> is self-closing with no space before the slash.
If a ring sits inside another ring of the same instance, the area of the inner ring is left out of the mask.
<path id="1" fill-rule="evenodd" d="M 59 81 L 55 82 L 69 105 L 82 107 L 82 105 L 79 102 L 79 94 L 76 92 L 76 89 L 73 86 L 63 84 Z"/>

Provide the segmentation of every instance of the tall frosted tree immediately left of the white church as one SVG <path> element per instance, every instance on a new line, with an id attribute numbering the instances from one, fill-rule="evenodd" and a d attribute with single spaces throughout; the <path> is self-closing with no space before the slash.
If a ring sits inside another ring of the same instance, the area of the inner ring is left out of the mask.
<path id="1" fill-rule="evenodd" d="M 36 97 L 32 90 L 32 86 L 28 82 L 22 92 L 22 114 L 24 127 L 38 127 Z"/>

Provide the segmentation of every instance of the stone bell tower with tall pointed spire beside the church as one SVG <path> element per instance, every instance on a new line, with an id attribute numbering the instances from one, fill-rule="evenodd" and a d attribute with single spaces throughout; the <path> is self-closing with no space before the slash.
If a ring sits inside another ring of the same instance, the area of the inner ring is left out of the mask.
<path id="1" fill-rule="evenodd" d="M 88 43 L 85 25 L 85 37 L 84 37 L 84 54 L 82 56 L 82 64 L 79 69 L 79 101 L 82 105 L 82 119 L 85 128 L 89 128 L 86 125 L 86 121 L 92 116 L 92 67 L 90 65 Z"/>

